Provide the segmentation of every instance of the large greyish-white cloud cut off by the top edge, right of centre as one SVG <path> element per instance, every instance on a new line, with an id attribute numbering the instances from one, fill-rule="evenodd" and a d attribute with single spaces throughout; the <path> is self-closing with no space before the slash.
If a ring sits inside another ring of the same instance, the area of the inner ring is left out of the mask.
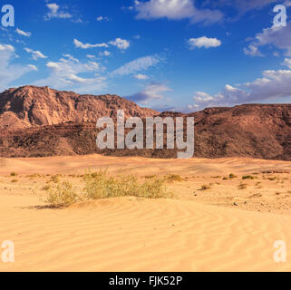
<path id="1" fill-rule="evenodd" d="M 180 20 L 189 18 L 192 23 L 213 24 L 223 18 L 223 14 L 218 10 L 196 8 L 192 0 L 135 1 L 134 8 L 138 12 L 138 19 Z"/>

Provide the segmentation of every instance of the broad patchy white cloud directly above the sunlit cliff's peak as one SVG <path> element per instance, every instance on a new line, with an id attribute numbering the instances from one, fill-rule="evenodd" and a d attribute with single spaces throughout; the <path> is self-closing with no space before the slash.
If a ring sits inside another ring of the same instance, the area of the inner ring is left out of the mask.
<path id="1" fill-rule="evenodd" d="M 77 92 L 96 92 L 106 88 L 106 78 L 100 74 L 100 64 L 96 62 L 80 62 L 71 54 L 63 54 L 58 62 L 46 63 L 50 75 L 35 85 L 52 86 L 55 89 L 73 89 Z M 86 73 L 90 76 L 81 76 Z"/>

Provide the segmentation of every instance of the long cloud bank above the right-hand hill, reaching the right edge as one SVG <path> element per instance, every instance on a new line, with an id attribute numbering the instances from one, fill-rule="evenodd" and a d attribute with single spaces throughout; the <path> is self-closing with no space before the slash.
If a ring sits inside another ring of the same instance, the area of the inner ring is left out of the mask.
<path id="1" fill-rule="evenodd" d="M 264 71 L 262 77 L 253 82 L 245 82 L 237 87 L 227 84 L 221 92 L 215 95 L 196 92 L 193 97 L 194 103 L 199 108 L 205 108 L 290 97 L 291 59 L 286 58 L 282 64 L 289 69 Z"/>

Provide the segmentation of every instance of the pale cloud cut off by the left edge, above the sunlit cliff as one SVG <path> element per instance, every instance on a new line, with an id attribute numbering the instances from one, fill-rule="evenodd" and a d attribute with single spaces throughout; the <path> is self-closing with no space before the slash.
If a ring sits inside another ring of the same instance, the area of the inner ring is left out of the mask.
<path id="1" fill-rule="evenodd" d="M 21 78 L 24 74 L 33 72 L 36 69 L 32 64 L 12 64 L 14 59 L 15 48 L 10 44 L 0 43 L 0 91 L 7 89 L 7 87 Z"/>

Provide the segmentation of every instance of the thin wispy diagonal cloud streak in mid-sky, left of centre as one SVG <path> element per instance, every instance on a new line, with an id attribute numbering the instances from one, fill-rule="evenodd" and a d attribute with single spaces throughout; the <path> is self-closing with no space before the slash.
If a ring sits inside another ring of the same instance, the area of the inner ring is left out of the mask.
<path id="1" fill-rule="evenodd" d="M 112 72 L 112 76 L 138 73 L 147 70 L 150 66 L 157 65 L 160 61 L 161 59 L 158 55 L 144 56 L 122 65 L 120 68 Z"/>

